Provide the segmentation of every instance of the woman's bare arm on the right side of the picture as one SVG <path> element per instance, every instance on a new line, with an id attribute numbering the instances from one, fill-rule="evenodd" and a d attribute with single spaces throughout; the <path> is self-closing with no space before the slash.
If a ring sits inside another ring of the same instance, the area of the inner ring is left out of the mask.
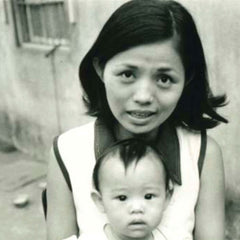
<path id="1" fill-rule="evenodd" d="M 196 208 L 195 240 L 224 240 L 225 182 L 219 145 L 208 137 Z"/>

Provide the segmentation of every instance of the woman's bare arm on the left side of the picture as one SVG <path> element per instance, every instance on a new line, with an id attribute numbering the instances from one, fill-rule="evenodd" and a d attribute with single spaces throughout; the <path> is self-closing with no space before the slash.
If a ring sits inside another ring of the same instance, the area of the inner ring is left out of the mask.
<path id="1" fill-rule="evenodd" d="M 47 177 L 47 239 L 62 240 L 77 232 L 73 196 L 52 150 Z"/>

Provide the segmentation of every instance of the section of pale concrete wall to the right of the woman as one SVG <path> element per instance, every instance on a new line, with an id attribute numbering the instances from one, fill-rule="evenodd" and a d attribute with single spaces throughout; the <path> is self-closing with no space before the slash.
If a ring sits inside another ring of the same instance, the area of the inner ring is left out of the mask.
<path id="1" fill-rule="evenodd" d="M 219 112 L 229 120 L 209 131 L 221 145 L 227 197 L 240 194 L 240 1 L 180 0 L 196 19 L 202 38 L 210 83 L 216 94 L 226 93 L 229 104 Z"/>

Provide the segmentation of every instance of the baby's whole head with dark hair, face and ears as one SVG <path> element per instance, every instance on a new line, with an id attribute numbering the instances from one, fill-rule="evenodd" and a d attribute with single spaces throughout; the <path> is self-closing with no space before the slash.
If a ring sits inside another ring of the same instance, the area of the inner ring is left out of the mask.
<path id="1" fill-rule="evenodd" d="M 92 198 L 120 239 L 148 239 L 161 220 L 168 176 L 159 153 L 142 140 L 115 144 L 97 162 Z"/>

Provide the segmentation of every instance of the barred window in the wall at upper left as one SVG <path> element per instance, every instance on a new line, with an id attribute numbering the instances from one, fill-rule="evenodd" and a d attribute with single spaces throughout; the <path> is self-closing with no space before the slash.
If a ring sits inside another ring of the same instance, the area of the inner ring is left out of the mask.
<path id="1" fill-rule="evenodd" d="M 69 23 L 64 0 L 15 0 L 20 43 L 67 44 Z"/>

